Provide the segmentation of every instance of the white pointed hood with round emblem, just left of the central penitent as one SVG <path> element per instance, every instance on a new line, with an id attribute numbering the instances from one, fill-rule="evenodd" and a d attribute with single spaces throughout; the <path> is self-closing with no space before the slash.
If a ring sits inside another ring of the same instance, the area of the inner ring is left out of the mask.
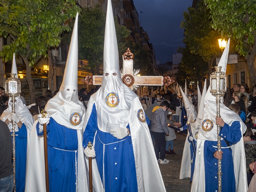
<path id="1" fill-rule="evenodd" d="M 86 110 L 78 100 L 78 13 L 68 50 L 60 91 L 50 99 L 45 110 L 54 120 L 67 128 L 82 130 Z"/>

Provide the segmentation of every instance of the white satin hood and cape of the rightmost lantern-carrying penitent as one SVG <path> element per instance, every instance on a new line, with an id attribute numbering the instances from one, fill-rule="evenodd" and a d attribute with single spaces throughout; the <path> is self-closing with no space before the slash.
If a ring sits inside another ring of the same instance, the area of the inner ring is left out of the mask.
<path id="1" fill-rule="evenodd" d="M 226 73 L 229 44 L 230 44 L 230 40 L 228 40 L 227 46 L 218 64 L 218 66 L 222 66 L 221 71 L 224 73 Z M 223 97 L 222 97 L 222 100 L 223 100 Z M 202 102 L 200 105 L 202 105 Z M 201 108 L 202 106 L 200 106 L 200 109 Z M 205 183 L 210 182 L 205 180 L 204 143 L 206 141 L 207 142 L 217 141 L 216 114 L 217 114 L 216 113 L 216 97 L 214 97 L 210 93 L 210 88 L 209 88 L 204 98 L 204 110 L 202 115 L 202 123 L 200 124 L 199 132 L 198 132 L 196 164 L 195 164 L 191 191 L 204 192 L 206 190 Z M 241 118 L 234 111 L 231 111 L 229 108 L 227 108 L 222 101 L 220 102 L 220 116 L 224 120 L 224 122 L 229 126 L 231 126 L 232 123 L 235 121 L 240 122 L 240 130 L 242 134 L 245 132 L 246 126 L 242 122 Z M 246 163 L 245 163 L 244 144 L 243 144 L 242 134 L 241 134 L 240 141 L 231 146 L 233 163 L 234 163 L 236 192 L 247 191 Z M 223 138 L 221 138 L 221 140 L 223 140 Z M 225 166 L 225 165 L 222 164 L 222 166 Z M 223 177 L 224 175 L 222 175 L 222 179 Z M 223 185 L 225 184 L 222 183 L 222 186 Z M 214 186 L 214 187 L 218 188 L 218 186 Z"/>

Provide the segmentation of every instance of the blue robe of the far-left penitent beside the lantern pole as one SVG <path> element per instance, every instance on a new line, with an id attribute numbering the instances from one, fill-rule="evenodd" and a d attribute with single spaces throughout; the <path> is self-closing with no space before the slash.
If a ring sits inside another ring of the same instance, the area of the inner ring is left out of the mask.
<path id="1" fill-rule="evenodd" d="M 16 192 L 24 192 L 25 190 L 27 135 L 28 133 L 25 124 L 22 124 L 21 128 L 19 128 L 19 131 L 15 132 Z"/>

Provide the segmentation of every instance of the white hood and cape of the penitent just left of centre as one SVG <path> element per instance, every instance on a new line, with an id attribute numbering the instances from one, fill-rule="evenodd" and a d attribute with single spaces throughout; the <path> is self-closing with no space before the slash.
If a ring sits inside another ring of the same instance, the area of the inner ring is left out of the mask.
<path id="1" fill-rule="evenodd" d="M 86 167 L 84 162 L 84 152 L 82 148 L 82 128 L 84 126 L 86 110 L 82 102 L 78 100 L 78 13 L 72 32 L 72 38 L 68 51 L 68 58 L 64 71 L 63 81 L 60 86 L 60 91 L 50 99 L 45 110 L 50 117 L 57 122 L 58 126 L 76 130 L 78 140 L 78 150 L 76 152 L 76 174 L 71 177 L 76 177 L 77 192 L 88 192 L 88 184 L 86 178 Z M 50 120 L 51 122 L 51 120 Z M 36 126 L 38 121 L 34 123 L 31 131 L 31 147 L 29 150 L 28 169 L 26 174 L 25 192 L 37 191 L 45 192 L 45 171 L 44 167 L 44 151 L 43 141 L 38 137 Z M 54 140 L 54 138 L 50 138 Z M 76 138 L 74 138 L 75 140 Z M 32 144 L 33 142 L 33 144 Z M 58 150 L 58 149 L 56 149 Z M 62 150 L 62 149 L 60 149 Z M 65 150 L 64 150 L 65 151 Z M 73 151 L 72 151 L 73 152 Z M 48 149 L 49 153 L 49 149 Z M 49 158 L 49 156 L 48 156 Z M 70 159 L 71 161 L 72 159 Z M 69 161 L 69 160 L 68 160 Z M 58 159 L 56 160 L 58 162 Z M 52 162 L 54 163 L 54 162 Z M 73 162 L 72 162 L 73 163 Z M 50 168 L 50 167 L 49 167 Z M 57 169 L 58 170 L 58 169 Z M 63 173 L 64 174 L 64 173 Z M 74 190 L 74 189 L 70 189 Z"/>

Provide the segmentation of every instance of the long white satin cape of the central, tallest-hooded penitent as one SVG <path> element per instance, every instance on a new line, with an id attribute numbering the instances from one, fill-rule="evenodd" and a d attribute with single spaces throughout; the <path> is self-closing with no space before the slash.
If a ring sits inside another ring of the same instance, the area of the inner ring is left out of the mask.
<path id="1" fill-rule="evenodd" d="M 86 127 L 90 118 L 94 103 L 94 98 L 91 97 L 88 102 L 86 124 L 84 127 Z M 156 160 L 148 126 L 146 122 L 142 123 L 138 120 L 137 114 L 140 109 L 142 109 L 142 106 L 138 97 L 136 97 L 131 104 L 129 117 L 127 117 L 129 118 L 134 151 L 138 192 L 165 192 L 164 182 Z M 95 161 L 94 164 L 96 164 L 96 160 L 94 159 L 93 161 Z"/>

